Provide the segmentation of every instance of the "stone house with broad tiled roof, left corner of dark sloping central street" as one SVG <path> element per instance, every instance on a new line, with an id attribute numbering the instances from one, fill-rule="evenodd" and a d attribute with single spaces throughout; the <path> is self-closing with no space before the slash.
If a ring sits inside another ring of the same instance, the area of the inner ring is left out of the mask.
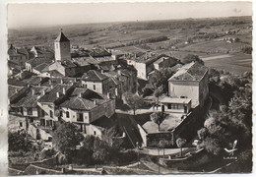
<path id="1" fill-rule="evenodd" d="M 94 122 L 103 117 L 108 119 L 115 113 L 115 99 L 92 89 L 76 88 L 59 108 L 64 121 L 76 124 L 85 135 L 100 137 L 103 127 L 94 125 Z"/>

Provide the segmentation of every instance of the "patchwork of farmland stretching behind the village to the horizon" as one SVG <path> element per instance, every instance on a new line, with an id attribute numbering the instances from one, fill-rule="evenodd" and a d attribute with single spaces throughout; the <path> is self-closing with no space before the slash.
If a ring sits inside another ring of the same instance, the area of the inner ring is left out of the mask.
<path id="1" fill-rule="evenodd" d="M 53 47 L 59 29 L 64 30 L 71 44 L 85 48 L 102 46 L 130 53 L 150 50 L 178 59 L 187 54 L 195 54 L 210 67 L 235 74 L 252 70 L 252 56 L 242 51 L 243 48 L 252 46 L 251 17 L 9 29 L 8 44 L 12 43 L 17 47 Z M 223 57 L 225 55 L 228 57 Z"/>

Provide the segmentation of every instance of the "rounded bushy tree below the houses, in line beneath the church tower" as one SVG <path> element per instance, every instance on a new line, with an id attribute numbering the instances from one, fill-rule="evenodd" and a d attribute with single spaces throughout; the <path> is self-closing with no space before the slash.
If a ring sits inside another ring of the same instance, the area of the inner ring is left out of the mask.
<path id="1" fill-rule="evenodd" d="M 82 134 L 77 127 L 69 122 L 61 122 L 57 129 L 52 133 L 52 143 L 61 153 L 72 157 L 72 152 L 83 140 Z"/>

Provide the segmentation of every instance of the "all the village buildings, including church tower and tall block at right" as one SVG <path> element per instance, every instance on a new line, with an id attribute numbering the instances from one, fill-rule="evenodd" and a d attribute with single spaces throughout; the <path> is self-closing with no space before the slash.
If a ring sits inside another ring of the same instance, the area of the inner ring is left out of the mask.
<path id="1" fill-rule="evenodd" d="M 127 91 L 136 93 L 138 79 L 148 80 L 156 70 L 178 63 L 151 52 L 131 55 L 101 47 L 71 47 L 62 31 L 54 50 L 11 45 L 8 56 L 9 110 L 19 117 L 10 126 L 27 129 L 34 139 L 45 142 L 51 141 L 50 130 L 60 120 L 73 123 L 85 136 L 100 138 L 114 125 L 116 99 Z M 168 80 L 168 95 L 160 96 L 160 111 L 168 114 L 160 130 L 152 121 L 138 125 L 144 146 L 151 146 L 158 136 L 173 137 L 191 110 L 204 105 L 208 92 L 208 69 L 199 63 L 182 66 Z"/>

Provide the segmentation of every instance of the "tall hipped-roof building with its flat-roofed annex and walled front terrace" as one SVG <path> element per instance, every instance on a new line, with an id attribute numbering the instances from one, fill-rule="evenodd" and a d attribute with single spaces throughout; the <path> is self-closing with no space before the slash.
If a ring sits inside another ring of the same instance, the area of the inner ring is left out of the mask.
<path id="1" fill-rule="evenodd" d="M 192 119 L 196 120 L 191 113 L 205 105 L 209 95 L 208 82 L 207 67 L 194 62 L 182 66 L 169 78 L 168 95 L 160 96 L 160 111 L 167 115 L 160 127 L 151 120 L 138 124 L 143 145 L 156 147 L 164 139 L 169 142 L 168 146 L 175 146 L 182 131 L 192 126 Z"/>

